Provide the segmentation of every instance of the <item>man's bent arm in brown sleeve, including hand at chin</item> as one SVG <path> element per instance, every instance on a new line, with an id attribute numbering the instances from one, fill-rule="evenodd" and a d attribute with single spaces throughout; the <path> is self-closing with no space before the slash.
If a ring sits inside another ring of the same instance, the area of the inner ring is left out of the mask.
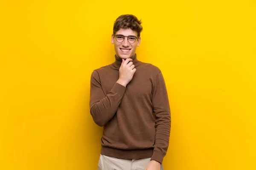
<path id="1" fill-rule="evenodd" d="M 125 94 L 126 85 L 131 81 L 136 71 L 132 59 L 122 59 L 119 68 L 119 79 L 107 95 L 102 90 L 99 74 L 93 71 L 90 83 L 90 113 L 94 122 L 104 126 L 115 115 Z"/>

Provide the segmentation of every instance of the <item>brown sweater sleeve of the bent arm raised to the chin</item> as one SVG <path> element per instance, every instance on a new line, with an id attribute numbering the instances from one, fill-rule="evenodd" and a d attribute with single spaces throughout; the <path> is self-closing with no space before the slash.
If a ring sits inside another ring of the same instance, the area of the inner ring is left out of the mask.
<path id="1" fill-rule="evenodd" d="M 112 119 L 125 94 L 125 89 L 125 86 L 116 82 L 111 91 L 105 95 L 99 73 L 93 71 L 90 81 L 90 113 L 97 125 L 104 126 Z"/>

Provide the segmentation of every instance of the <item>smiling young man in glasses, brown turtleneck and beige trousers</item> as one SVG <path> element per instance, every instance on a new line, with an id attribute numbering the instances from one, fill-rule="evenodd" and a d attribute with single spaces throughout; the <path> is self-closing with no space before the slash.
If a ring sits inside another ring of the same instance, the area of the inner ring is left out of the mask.
<path id="1" fill-rule="evenodd" d="M 141 21 L 119 16 L 111 37 L 115 62 L 91 75 L 90 113 L 103 126 L 98 170 L 163 170 L 170 107 L 163 75 L 140 62 Z"/>

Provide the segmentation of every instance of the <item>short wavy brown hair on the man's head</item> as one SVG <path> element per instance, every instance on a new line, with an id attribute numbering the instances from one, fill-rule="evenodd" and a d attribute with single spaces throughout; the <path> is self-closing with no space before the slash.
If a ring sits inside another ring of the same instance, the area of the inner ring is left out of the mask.
<path id="1" fill-rule="evenodd" d="M 138 37 L 140 37 L 140 32 L 143 30 L 141 26 L 141 20 L 139 21 L 138 18 L 134 15 L 125 14 L 116 18 L 113 34 L 116 34 L 116 31 L 119 31 L 119 29 L 127 28 L 131 28 L 131 30 L 136 31 L 138 33 Z"/>

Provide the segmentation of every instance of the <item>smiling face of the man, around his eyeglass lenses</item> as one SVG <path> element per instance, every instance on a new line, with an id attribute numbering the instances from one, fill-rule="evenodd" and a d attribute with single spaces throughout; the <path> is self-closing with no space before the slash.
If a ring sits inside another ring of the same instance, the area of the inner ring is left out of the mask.
<path id="1" fill-rule="evenodd" d="M 128 29 L 119 29 L 119 31 L 116 31 L 116 35 L 124 35 L 129 36 L 133 35 L 135 37 L 138 36 L 136 31 L 131 30 L 131 28 Z M 137 38 L 137 40 L 134 43 L 128 42 L 128 37 L 125 37 L 125 40 L 123 42 L 117 42 L 116 37 L 112 34 L 112 44 L 114 44 L 116 56 L 122 59 L 131 58 L 134 56 L 137 46 L 140 45 L 140 37 Z"/>

